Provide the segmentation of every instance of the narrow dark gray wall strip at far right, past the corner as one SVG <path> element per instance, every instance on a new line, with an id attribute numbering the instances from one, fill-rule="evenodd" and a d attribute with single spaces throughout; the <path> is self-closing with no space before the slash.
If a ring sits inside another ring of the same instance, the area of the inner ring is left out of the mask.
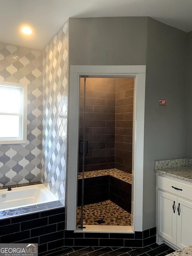
<path id="1" fill-rule="evenodd" d="M 192 158 L 192 31 L 187 34 L 187 76 L 186 76 L 186 154 Z"/>

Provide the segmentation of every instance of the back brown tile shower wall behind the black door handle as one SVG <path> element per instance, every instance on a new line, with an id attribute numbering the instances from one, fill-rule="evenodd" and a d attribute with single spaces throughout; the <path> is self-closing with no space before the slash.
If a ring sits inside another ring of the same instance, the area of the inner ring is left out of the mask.
<path id="1" fill-rule="evenodd" d="M 84 82 L 80 79 L 79 140 L 83 139 Z M 115 167 L 116 78 L 87 78 L 85 91 L 85 171 Z M 79 155 L 82 171 L 82 155 Z"/>

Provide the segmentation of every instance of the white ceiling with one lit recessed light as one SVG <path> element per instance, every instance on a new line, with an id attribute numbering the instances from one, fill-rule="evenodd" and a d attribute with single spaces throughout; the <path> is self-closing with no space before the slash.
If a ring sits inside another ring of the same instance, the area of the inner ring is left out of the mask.
<path id="1" fill-rule="evenodd" d="M 42 50 L 69 17 L 149 16 L 192 30 L 192 0 L 0 0 L 0 42 Z M 21 26 L 33 33 L 22 35 Z"/>

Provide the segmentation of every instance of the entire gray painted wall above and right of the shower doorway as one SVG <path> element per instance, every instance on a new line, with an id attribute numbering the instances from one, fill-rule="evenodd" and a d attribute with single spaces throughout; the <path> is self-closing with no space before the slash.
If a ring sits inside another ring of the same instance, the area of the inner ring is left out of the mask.
<path id="1" fill-rule="evenodd" d="M 146 65 L 143 230 L 154 227 L 154 160 L 185 157 L 187 33 L 148 17 L 70 18 L 69 31 L 70 65 Z"/>

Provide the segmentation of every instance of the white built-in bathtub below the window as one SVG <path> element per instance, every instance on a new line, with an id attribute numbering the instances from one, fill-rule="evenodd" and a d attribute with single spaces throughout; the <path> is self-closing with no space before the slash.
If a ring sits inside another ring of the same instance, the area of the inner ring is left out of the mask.
<path id="1" fill-rule="evenodd" d="M 0 211 L 57 201 L 58 198 L 43 184 L 0 190 Z"/>

